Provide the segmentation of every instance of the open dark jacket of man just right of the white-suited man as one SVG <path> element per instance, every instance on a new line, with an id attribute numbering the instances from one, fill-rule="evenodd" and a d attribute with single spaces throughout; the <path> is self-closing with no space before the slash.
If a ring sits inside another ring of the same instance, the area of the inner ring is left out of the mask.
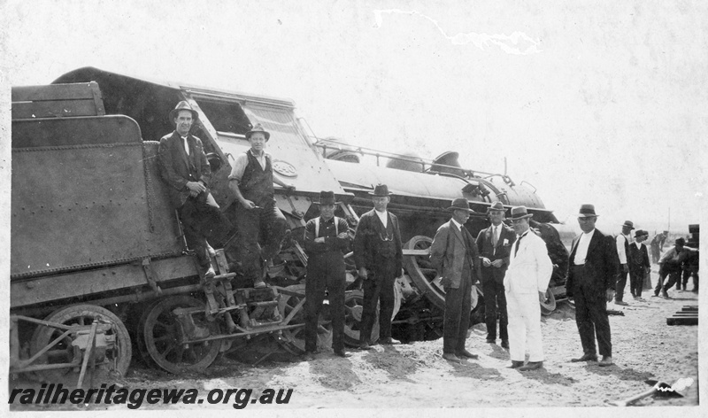
<path id="1" fill-rule="evenodd" d="M 566 292 L 569 297 L 573 296 L 574 286 L 578 285 L 573 267 L 575 266 L 575 251 L 581 236 L 573 238 L 571 245 L 570 259 L 568 260 L 568 278 L 566 280 Z M 606 236 L 598 229 L 595 229 L 592 239 L 588 245 L 588 255 L 585 258 L 586 275 L 592 282 L 596 292 L 603 293 L 614 290 L 617 275 L 620 273 L 620 259 L 617 257 L 615 241 L 612 236 Z"/>

